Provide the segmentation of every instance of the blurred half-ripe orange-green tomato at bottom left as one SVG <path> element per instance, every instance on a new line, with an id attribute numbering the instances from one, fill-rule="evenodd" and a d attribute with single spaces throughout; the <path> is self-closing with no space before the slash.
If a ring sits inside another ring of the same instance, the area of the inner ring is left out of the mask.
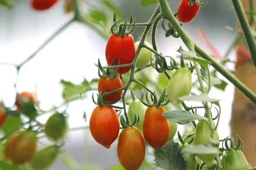
<path id="1" fill-rule="evenodd" d="M 5 156 L 13 164 L 19 165 L 29 161 L 36 152 L 37 137 L 32 130 L 24 130 L 15 134 L 6 144 Z"/>

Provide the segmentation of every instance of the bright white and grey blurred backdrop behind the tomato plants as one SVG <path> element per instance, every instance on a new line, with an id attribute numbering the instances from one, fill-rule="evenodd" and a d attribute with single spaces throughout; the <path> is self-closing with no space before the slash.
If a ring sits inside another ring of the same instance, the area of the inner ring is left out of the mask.
<path id="1" fill-rule="evenodd" d="M 88 0 L 88 2 L 100 8 L 97 1 L 90 2 Z M 147 22 L 156 7 L 153 5 L 141 8 L 140 0 L 112 0 L 112 2 L 119 7 L 124 18 L 129 18 L 130 12 L 132 12 L 138 23 Z M 177 10 L 179 2 L 169 0 L 173 12 Z M 15 7 L 11 10 L 0 8 L 0 62 L 20 64 L 72 17 L 73 13 L 64 13 L 64 0 L 60 0 L 47 11 L 32 10 L 29 0 L 15 0 Z M 234 28 L 235 25 L 236 14 L 232 9 L 231 1 L 209 0 L 207 5 L 200 9 L 195 20 L 184 24 L 183 28 L 198 45 L 208 51 L 197 32 L 198 28 L 203 28 L 212 45 L 218 49 L 220 54 L 224 54 L 235 38 L 235 33 L 225 27 Z M 140 40 L 142 32 L 143 28 L 136 28 L 133 33 L 135 41 Z M 166 38 L 161 27 L 159 27 L 157 35 L 159 51 L 164 55 L 175 57 L 180 45 L 185 48 L 180 39 Z M 89 81 L 97 78 L 98 69 L 93 63 L 97 63 L 100 59 L 102 65 L 107 64 L 105 61 L 106 42 L 87 24 L 72 23 L 32 60 L 20 68 L 17 91 L 36 91 L 40 107 L 43 110 L 50 109 L 52 105 L 61 105 L 63 86 L 60 84 L 60 80 L 64 79 L 79 84 L 84 77 Z M 232 52 L 229 57 L 231 60 L 235 60 L 235 53 Z M 233 65 L 228 66 L 233 70 Z M 0 65 L 0 99 L 4 99 L 6 105 L 9 106 L 15 103 L 14 84 L 16 78 L 17 71 L 14 66 Z M 220 78 L 224 79 L 221 76 Z M 229 121 L 233 91 L 234 87 L 229 83 L 225 91 L 212 88 L 209 94 L 212 98 L 222 99 L 220 102 L 222 114 L 218 126 L 218 129 L 221 129 L 218 130 L 220 139 L 224 139 L 230 134 Z M 192 92 L 198 91 L 192 89 Z M 71 102 L 67 109 L 67 113 L 70 114 L 70 128 L 88 125 L 90 114 L 96 105 L 91 99 L 92 92 L 87 92 L 86 95 L 86 99 Z M 83 119 L 84 111 L 87 114 L 87 122 Z M 49 115 L 44 115 L 39 120 L 44 123 L 48 117 Z M 183 126 L 179 125 L 178 130 L 183 131 Z M 93 140 L 88 129 L 72 130 L 68 133 L 67 143 L 63 150 L 67 151 L 67 155 L 71 156 L 73 161 L 66 161 L 66 164 L 73 164 L 73 167 L 76 167 L 76 164 L 92 165 L 90 167 L 99 170 L 118 165 L 116 144 L 117 142 L 111 146 L 111 149 L 106 150 L 105 147 Z M 42 139 L 41 145 L 41 147 L 49 145 L 49 142 Z M 63 159 L 65 158 L 59 157 L 50 169 L 72 169 L 71 165 L 69 165 L 70 167 L 65 165 Z M 153 161 L 153 157 L 147 159 Z"/>

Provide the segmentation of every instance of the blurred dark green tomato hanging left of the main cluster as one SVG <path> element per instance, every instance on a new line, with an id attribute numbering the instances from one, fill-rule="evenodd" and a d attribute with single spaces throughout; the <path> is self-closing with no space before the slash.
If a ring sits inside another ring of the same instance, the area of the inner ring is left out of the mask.
<path id="1" fill-rule="evenodd" d="M 44 132 L 48 139 L 62 142 L 67 135 L 67 117 L 61 113 L 54 113 L 45 124 Z"/>

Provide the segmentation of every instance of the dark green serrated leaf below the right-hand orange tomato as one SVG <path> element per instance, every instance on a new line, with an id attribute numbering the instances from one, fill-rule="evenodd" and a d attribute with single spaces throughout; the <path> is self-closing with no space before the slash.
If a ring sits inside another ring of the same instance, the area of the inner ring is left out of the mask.
<path id="1" fill-rule="evenodd" d="M 179 144 L 170 140 L 154 152 L 156 165 L 165 170 L 184 170 L 186 161 L 180 153 Z"/>

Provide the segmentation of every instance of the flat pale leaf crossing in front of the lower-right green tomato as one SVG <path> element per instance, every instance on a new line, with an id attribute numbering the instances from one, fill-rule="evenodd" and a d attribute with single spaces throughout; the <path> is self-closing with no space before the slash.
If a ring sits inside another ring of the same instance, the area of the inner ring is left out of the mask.
<path id="1" fill-rule="evenodd" d="M 198 144 L 195 146 L 186 147 L 181 152 L 182 153 L 193 153 L 193 154 L 217 154 L 217 153 L 219 153 L 219 150 L 218 150 L 218 147 Z"/>

